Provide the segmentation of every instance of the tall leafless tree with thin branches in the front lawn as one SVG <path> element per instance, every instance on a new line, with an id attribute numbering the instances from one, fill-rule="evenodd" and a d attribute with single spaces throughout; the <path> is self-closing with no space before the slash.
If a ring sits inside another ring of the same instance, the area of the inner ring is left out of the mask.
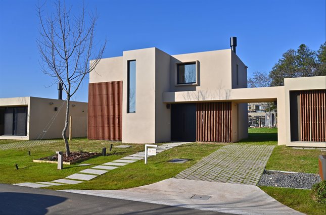
<path id="1" fill-rule="evenodd" d="M 44 5 L 43 5 L 44 6 Z M 62 83 L 66 92 L 66 117 L 62 137 L 66 145 L 66 154 L 70 156 L 66 136 L 69 118 L 70 98 L 77 92 L 82 80 L 100 62 L 106 41 L 100 48 L 94 43 L 95 26 L 98 16 L 89 14 L 85 17 L 85 8 L 79 15 L 71 14 L 71 7 L 66 8 L 58 0 L 55 11 L 43 16 L 43 6 L 38 5 L 40 21 L 39 38 L 40 65 L 44 74 L 51 76 L 55 83 Z M 85 20 L 86 19 L 86 20 Z M 93 59 L 88 66 L 89 60 Z"/>

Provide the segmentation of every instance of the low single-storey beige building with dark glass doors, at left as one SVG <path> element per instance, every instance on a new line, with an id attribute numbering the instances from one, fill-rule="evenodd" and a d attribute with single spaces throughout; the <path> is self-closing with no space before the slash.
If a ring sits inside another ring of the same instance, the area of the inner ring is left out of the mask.
<path id="1" fill-rule="evenodd" d="M 87 103 L 70 101 L 70 104 L 72 137 L 86 137 Z M 62 138 L 65 116 L 65 100 L 37 97 L 0 98 L 0 139 Z"/>

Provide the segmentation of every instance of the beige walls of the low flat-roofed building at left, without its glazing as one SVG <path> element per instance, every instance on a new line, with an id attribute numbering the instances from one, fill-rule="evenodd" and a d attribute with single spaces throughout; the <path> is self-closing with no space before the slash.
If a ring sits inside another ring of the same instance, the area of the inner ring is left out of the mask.
<path id="1" fill-rule="evenodd" d="M 36 140 L 62 137 L 66 115 L 65 100 L 38 97 L 0 98 L 0 108 L 17 106 L 27 107 L 27 135 L 2 135 L 0 139 Z M 86 137 L 87 103 L 70 101 L 69 116 L 72 118 L 72 137 Z"/>

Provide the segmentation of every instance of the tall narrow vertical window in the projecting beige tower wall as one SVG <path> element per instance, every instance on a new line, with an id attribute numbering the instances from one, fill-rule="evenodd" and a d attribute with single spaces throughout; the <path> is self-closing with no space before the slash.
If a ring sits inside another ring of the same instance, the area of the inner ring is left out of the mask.
<path id="1" fill-rule="evenodd" d="M 136 61 L 128 61 L 127 113 L 136 112 Z"/>

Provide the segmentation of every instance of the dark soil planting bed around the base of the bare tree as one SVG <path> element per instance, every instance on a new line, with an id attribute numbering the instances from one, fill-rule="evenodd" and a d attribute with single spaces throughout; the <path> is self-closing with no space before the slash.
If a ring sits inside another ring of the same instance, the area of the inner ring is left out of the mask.
<path id="1" fill-rule="evenodd" d="M 63 164 L 75 164 L 78 162 L 82 162 L 83 160 L 89 159 L 91 157 L 99 156 L 100 153 L 97 152 L 71 152 L 70 156 L 67 157 L 67 155 L 64 153 L 62 155 L 63 157 Z M 36 163 L 58 163 L 58 154 L 42 157 L 36 160 L 33 160 L 33 162 Z"/>

